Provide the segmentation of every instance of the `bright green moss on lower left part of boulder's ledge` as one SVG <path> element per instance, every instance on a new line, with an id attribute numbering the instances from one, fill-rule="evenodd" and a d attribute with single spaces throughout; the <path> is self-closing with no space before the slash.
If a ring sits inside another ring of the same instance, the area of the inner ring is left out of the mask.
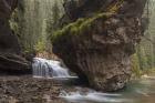
<path id="1" fill-rule="evenodd" d="M 52 43 L 54 43 L 60 38 L 64 38 L 65 35 L 70 37 L 73 34 L 79 34 L 79 35 L 84 34 L 89 32 L 90 30 L 92 30 L 95 20 L 99 20 L 99 19 L 106 20 L 111 16 L 112 13 L 99 13 L 92 18 L 79 19 L 75 22 L 65 25 L 61 30 L 55 31 L 51 37 L 51 41 Z"/>

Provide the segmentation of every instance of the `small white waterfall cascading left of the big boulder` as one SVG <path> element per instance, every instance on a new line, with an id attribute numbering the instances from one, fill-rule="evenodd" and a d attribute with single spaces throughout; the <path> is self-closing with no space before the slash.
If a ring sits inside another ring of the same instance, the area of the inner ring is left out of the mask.
<path id="1" fill-rule="evenodd" d="M 60 61 L 34 58 L 32 69 L 33 69 L 33 78 L 46 78 L 46 79 L 75 78 L 69 74 L 68 69 L 61 66 Z"/>

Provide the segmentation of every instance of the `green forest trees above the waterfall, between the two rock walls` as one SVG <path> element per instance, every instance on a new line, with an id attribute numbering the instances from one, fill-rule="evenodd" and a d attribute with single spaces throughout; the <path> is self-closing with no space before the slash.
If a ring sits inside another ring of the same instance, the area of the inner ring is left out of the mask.
<path id="1" fill-rule="evenodd" d="M 62 0 L 19 0 L 10 25 L 24 52 L 51 50 L 49 35 L 62 14 L 60 8 Z"/>

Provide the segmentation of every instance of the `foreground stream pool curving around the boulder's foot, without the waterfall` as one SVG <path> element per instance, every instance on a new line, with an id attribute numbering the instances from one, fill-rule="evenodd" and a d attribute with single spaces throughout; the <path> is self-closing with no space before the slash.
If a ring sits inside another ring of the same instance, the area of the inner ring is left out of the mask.
<path id="1" fill-rule="evenodd" d="M 155 79 L 131 81 L 125 89 L 114 93 L 93 90 L 83 92 L 83 89 L 79 87 L 74 92 L 62 91 L 59 97 L 69 103 L 155 103 Z"/>

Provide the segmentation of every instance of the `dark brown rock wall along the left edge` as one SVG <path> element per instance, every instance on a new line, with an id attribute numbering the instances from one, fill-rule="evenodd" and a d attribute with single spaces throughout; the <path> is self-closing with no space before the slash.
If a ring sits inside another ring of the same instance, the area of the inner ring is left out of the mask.
<path id="1" fill-rule="evenodd" d="M 21 56 L 18 38 L 12 33 L 9 19 L 18 0 L 0 0 L 0 71 L 27 70 L 28 62 Z"/>

